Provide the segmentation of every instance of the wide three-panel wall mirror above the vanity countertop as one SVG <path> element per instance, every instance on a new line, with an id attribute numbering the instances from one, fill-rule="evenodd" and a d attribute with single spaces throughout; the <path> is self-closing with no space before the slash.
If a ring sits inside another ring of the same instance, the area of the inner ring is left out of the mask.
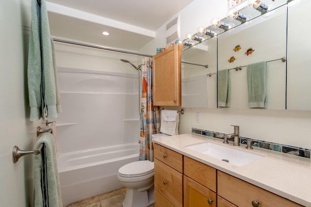
<path id="1" fill-rule="evenodd" d="M 311 70 L 308 62 L 311 41 L 307 39 L 311 2 L 261 2 L 272 8 L 272 12 L 264 14 L 249 10 L 249 6 L 242 8 L 239 12 L 250 16 L 251 21 L 241 23 L 224 18 L 222 22 L 234 23 L 232 29 L 214 29 L 209 26 L 207 29 L 217 32 L 217 36 L 202 42 L 193 41 L 195 46 L 184 48 L 183 60 L 208 64 L 208 68 L 183 64 L 183 107 L 217 107 L 217 78 L 207 77 L 204 90 L 201 87 L 204 84 L 196 79 L 214 73 L 216 68 L 217 75 L 221 70 L 229 69 L 229 108 L 249 109 L 246 66 L 266 61 L 266 109 L 311 110 Z M 199 45 L 207 46 L 207 49 L 199 48 Z M 197 93 L 198 88 L 202 88 L 200 93 Z M 195 99 L 194 96 L 202 99 Z"/>

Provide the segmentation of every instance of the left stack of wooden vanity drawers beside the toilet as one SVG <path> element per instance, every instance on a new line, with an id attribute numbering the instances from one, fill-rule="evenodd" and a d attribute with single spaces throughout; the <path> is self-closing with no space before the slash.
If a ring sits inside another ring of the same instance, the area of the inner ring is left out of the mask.
<path id="1" fill-rule="evenodd" d="M 183 155 L 159 144 L 155 149 L 155 207 L 183 206 Z"/>

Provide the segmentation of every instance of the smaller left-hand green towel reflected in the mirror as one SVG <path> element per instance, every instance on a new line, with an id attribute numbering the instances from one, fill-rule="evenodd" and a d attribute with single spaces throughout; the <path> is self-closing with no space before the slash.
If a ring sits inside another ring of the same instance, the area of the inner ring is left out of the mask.
<path id="1" fill-rule="evenodd" d="M 230 73 L 228 69 L 218 71 L 218 107 L 230 106 Z"/>

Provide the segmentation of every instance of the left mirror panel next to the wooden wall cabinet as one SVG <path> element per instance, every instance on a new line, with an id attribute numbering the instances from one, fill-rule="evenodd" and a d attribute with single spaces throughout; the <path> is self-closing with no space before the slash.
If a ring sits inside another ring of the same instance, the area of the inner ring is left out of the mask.
<path id="1" fill-rule="evenodd" d="M 209 38 L 181 53 L 182 107 L 216 108 L 217 38 Z M 194 64 L 190 64 L 194 63 Z"/>

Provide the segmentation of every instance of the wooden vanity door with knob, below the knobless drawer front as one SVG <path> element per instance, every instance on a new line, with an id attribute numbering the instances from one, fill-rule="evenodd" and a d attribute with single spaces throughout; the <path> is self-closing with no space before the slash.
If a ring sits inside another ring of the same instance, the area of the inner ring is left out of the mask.
<path id="1" fill-rule="evenodd" d="M 184 207 L 216 207 L 216 193 L 184 175 Z"/>

